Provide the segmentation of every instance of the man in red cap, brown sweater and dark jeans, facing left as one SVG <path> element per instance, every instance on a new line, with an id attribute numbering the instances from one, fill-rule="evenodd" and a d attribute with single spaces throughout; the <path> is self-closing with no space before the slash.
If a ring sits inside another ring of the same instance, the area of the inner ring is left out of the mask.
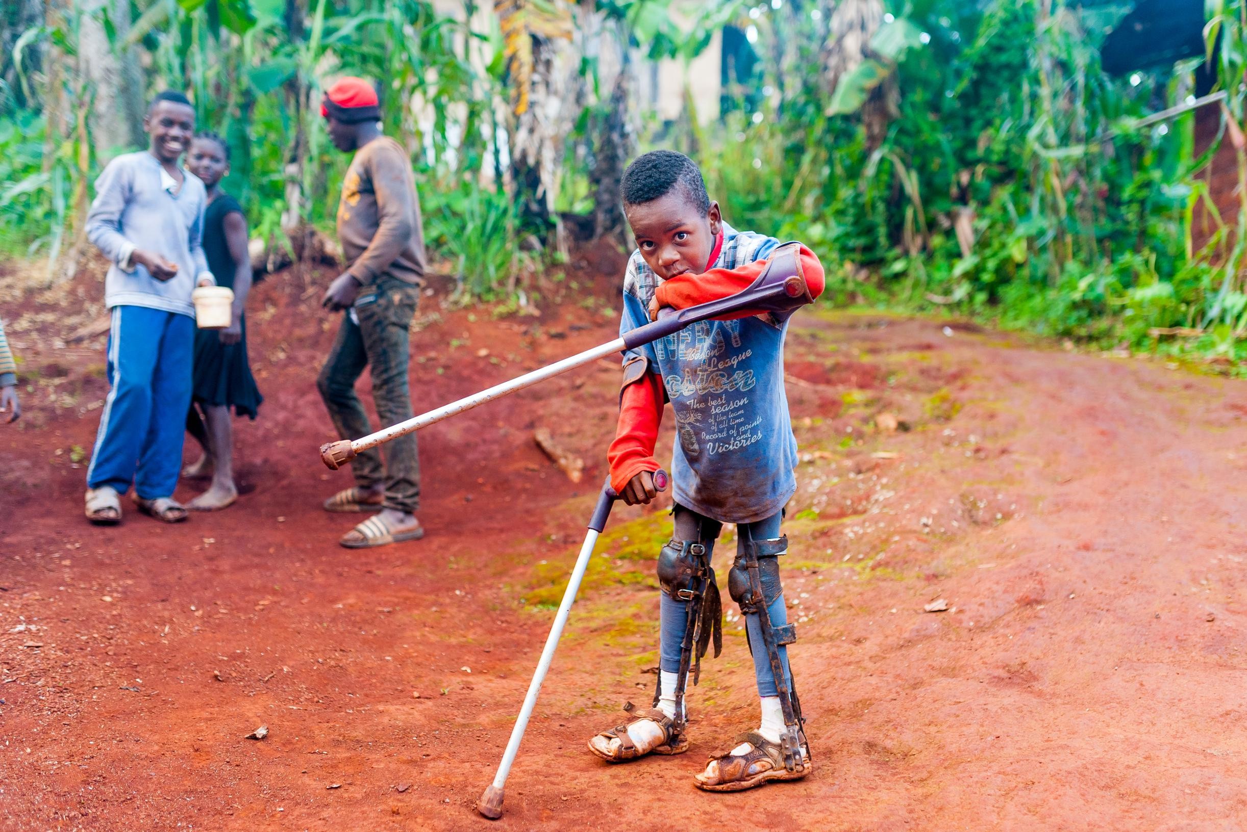
<path id="1" fill-rule="evenodd" d="M 317 387 L 338 435 L 354 440 L 373 431 L 355 395 L 368 366 L 382 425 L 412 417 L 408 391 L 408 326 L 424 280 L 420 202 L 407 152 L 382 133 L 377 91 L 363 78 L 345 77 L 320 102 L 333 146 L 354 153 L 338 202 L 338 238 L 345 273 L 329 284 L 322 305 L 345 310 Z M 415 433 L 380 451 L 360 452 L 350 465 L 355 485 L 324 502 L 330 512 L 378 512 L 348 532 L 342 546 L 362 549 L 424 537 L 415 511 L 420 465 Z"/>

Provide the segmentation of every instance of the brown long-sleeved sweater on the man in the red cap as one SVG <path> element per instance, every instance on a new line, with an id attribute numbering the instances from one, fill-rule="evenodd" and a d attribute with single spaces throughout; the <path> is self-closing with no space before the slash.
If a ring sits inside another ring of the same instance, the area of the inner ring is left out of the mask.
<path id="1" fill-rule="evenodd" d="M 424 230 L 412 163 L 388 136 L 358 151 L 342 181 L 338 239 L 347 272 L 368 285 L 382 275 L 419 284 L 424 278 Z"/>

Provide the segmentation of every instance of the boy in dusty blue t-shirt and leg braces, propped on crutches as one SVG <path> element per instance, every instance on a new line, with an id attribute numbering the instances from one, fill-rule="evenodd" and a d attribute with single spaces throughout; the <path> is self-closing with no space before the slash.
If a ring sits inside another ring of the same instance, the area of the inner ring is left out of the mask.
<path id="1" fill-rule="evenodd" d="M 722 220 L 697 166 L 681 153 L 637 158 L 622 181 L 625 214 L 637 242 L 624 280 L 626 333 L 685 309 L 733 295 L 768 268 L 796 268 L 809 294 L 823 289 L 818 258 L 803 245 L 781 244 Z M 796 491 L 797 442 L 783 387 L 788 314 L 752 314 L 696 323 L 624 359 L 619 431 L 609 452 L 611 485 L 630 504 L 655 494 L 653 458 L 665 401 L 671 401 L 676 442 L 672 463 L 675 534 L 658 554 L 661 598 L 660 676 L 653 706 L 589 740 L 611 762 L 688 749 L 685 690 L 697 684 L 700 660 L 721 645 L 721 602 L 711 567 L 723 523 L 737 528 L 728 592 L 746 619 L 761 699 L 757 729 L 711 755 L 695 785 L 741 791 L 811 771 L 801 702 L 786 645 L 787 623 L 778 557 L 783 506 Z"/>

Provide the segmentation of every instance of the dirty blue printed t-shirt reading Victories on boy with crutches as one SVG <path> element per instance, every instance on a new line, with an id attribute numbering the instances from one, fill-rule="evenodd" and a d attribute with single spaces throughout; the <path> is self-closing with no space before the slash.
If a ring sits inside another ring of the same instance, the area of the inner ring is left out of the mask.
<path id="1" fill-rule="evenodd" d="M 763 260 L 778 244 L 723 223 L 723 247 L 710 268 Z M 650 323 L 658 283 L 641 252 L 633 252 L 620 334 Z M 797 491 L 797 438 L 783 386 L 787 330 L 787 316 L 707 320 L 625 352 L 625 364 L 646 357 L 662 374 L 676 412 L 671 473 L 681 506 L 725 523 L 756 523 L 778 513 Z"/>

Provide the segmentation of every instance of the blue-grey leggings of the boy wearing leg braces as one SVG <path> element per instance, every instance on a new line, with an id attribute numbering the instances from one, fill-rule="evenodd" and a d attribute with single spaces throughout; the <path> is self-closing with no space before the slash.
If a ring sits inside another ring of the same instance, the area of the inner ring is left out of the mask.
<path id="1" fill-rule="evenodd" d="M 672 534 L 672 539 L 677 542 L 701 541 L 706 546 L 706 557 L 713 559 L 715 541 L 718 538 L 723 524 L 680 504 L 676 506 L 673 514 L 675 533 Z M 783 512 L 781 511 L 757 523 L 746 523 L 742 526 L 749 531 L 754 541 L 766 541 L 779 537 L 779 523 L 782 521 Z M 737 529 L 737 552 L 739 552 L 742 538 L 743 536 Z M 731 599 L 727 598 L 727 582 L 722 582 L 720 588 L 723 593 L 723 603 L 731 603 Z M 688 602 L 676 600 L 666 594 L 662 595 L 660 607 L 661 636 L 658 644 L 658 666 L 667 673 L 680 673 L 680 645 L 685 640 L 685 630 L 687 629 L 687 608 Z M 771 602 L 767 612 L 771 613 L 772 626 L 783 626 L 788 623 L 788 610 L 784 607 L 782 593 Z M 771 660 L 762 641 L 762 623 L 758 619 L 758 614 L 746 615 L 744 626 L 749 636 L 749 644 L 753 646 L 753 676 L 758 684 L 758 695 L 778 696 L 779 690 L 776 688 L 776 678 L 771 671 Z M 779 659 L 791 685 L 792 671 L 788 669 L 788 648 L 779 648 Z"/>

